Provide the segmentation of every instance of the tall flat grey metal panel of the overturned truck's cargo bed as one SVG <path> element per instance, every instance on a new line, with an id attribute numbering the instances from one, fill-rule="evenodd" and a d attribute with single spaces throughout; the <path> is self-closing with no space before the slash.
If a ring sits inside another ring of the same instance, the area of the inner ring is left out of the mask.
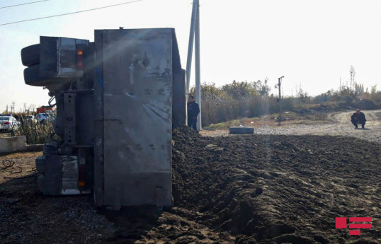
<path id="1" fill-rule="evenodd" d="M 103 194 L 113 209 L 172 204 L 173 33 L 96 30 L 103 36 Z"/>

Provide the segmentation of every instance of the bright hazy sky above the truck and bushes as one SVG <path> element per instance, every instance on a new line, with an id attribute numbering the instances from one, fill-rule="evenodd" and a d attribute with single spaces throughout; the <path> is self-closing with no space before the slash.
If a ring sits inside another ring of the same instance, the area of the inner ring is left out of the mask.
<path id="1" fill-rule="evenodd" d="M 37 0 L 1 0 L 0 7 Z M 0 8 L 0 24 L 86 10 L 123 0 L 50 0 Z M 186 67 L 192 1 L 143 0 L 113 8 L 38 21 L 0 25 L 0 112 L 16 102 L 47 105 L 47 91 L 26 86 L 20 51 L 40 35 L 93 41 L 95 29 L 176 28 Z M 311 95 L 349 81 L 379 84 L 380 0 L 200 0 L 201 81 L 218 86 L 237 81 L 283 79 L 284 95 L 295 86 Z M 192 70 L 194 72 L 194 69 Z M 194 73 L 191 86 L 194 84 Z M 273 88 L 273 92 L 276 92 Z"/>

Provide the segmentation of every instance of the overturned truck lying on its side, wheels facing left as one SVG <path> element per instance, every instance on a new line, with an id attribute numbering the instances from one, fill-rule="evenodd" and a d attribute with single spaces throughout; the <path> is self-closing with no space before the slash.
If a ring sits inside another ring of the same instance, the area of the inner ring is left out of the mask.
<path id="1" fill-rule="evenodd" d="M 174 29 L 40 37 L 21 58 L 25 83 L 47 88 L 57 106 L 55 135 L 36 159 L 41 192 L 93 192 L 110 209 L 172 205 L 171 130 L 186 123 Z"/>

